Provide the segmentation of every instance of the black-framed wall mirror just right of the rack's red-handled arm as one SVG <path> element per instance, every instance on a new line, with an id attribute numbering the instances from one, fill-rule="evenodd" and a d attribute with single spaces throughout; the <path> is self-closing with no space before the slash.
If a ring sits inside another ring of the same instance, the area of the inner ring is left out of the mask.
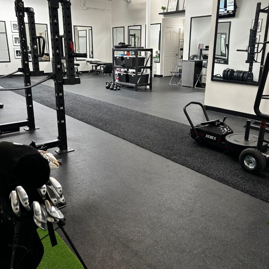
<path id="1" fill-rule="evenodd" d="M 91 26 L 74 25 L 75 51 L 87 53 L 87 58 L 93 58 L 93 29 Z M 76 61 L 85 61 L 85 58 L 76 57 Z"/>

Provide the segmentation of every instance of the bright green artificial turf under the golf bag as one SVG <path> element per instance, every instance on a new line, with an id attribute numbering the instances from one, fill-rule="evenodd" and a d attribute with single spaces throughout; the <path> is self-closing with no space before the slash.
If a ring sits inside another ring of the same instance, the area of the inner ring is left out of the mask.
<path id="1" fill-rule="evenodd" d="M 37 230 L 40 238 L 47 235 L 48 231 Z M 82 264 L 75 254 L 69 249 L 63 239 L 55 232 L 58 245 L 52 247 L 49 236 L 42 240 L 44 256 L 37 269 L 83 269 Z"/>

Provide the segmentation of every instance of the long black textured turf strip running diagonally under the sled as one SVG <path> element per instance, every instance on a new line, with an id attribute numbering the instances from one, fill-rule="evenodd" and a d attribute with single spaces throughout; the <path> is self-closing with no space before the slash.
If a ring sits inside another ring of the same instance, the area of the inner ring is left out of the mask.
<path id="1" fill-rule="evenodd" d="M 22 78 L 19 77 L 5 78 L 0 80 L 0 86 L 17 87 L 22 82 Z M 32 91 L 34 101 L 56 109 L 54 87 L 40 84 Z M 15 92 L 24 96 L 24 90 Z M 65 104 L 66 115 L 242 192 L 269 201 L 268 170 L 264 170 L 260 175 L 243 171 L 238 162 L 238 155 L 221 153 L 198 145 L 189 136 L 188 125 L 68 91 L 65 91 Z"/>

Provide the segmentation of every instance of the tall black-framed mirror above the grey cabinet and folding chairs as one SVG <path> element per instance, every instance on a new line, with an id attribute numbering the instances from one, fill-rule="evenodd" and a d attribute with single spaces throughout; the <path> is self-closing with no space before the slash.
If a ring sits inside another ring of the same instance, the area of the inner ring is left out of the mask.
<path id="1" fill-rule="evenodd" d="M 192 17 L 190 19 L 190 44 L 189 59 L 200 59 L 200 49 L 205 49 L 209 45 L 211 29 L 211 15 Z M 203 55 L 208 55 L 207 51 L 202 51 Z M 204 57 L 206 59 L 207 57 Z"/>

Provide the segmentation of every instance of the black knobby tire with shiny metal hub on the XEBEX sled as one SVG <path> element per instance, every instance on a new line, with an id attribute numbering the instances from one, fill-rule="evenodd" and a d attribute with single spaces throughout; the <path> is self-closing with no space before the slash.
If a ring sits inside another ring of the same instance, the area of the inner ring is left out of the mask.
<path id="1" fill-rule="evenodd" d="M 242 168 L 249 173 L 259 173 L 266 167 L 263 154 L 256 148 L 246 148 L 239 156 Z"/>

